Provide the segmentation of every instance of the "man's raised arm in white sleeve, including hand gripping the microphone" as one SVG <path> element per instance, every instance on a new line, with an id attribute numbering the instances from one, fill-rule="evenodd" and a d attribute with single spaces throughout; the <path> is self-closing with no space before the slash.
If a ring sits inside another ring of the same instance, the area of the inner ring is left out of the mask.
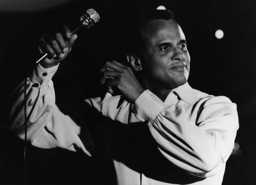
<path id="1" fill-rule="evenodd" d="M 55 104 L 51 79 L 77 37 L 70 35 L 67 27 L 64 28 L 67 37 L 56 33 L 55 36 L 44 35 L 39 39 L 40 52 L 47 52 L 50 57 L 37 65 L 27 79 L 27 139 L 40 148 L 61 147 L 75 151 L 76 145 L 90 155 L 78 137 L 81 128 L 69 116 L 60 112 Z M 12 94 L 9 116 L 12 131 L 22 139 L 25 136 L 24 82 Z"/>

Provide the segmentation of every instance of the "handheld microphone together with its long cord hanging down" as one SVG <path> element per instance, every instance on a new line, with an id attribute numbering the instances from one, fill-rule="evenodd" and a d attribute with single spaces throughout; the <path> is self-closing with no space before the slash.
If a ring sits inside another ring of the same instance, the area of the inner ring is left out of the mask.
<path id="1" fill-rule="evenodd" d="M 84 13 L 80 18 L 80 24 L 76 26 L 76 28 L 71 32 L 71 34 L 74 34 L 77 30 L 79 30 L 82 27 L 90 28 L 94 23 L 98 22 L 100 20 L 99 14 L 94 9 L 88 9 L 86 13 Z M 27 78 L 28 74 L 31 69 L 33 69 L 42 59 L 44 59 L 48 54 L 43 53 L 42 56 L 36 60 L 36 63 L 28 70 L 28 73 L 25 77 L 24 81 L 24 117 L 25 117 L 25 144 L 24 144 L 24 184 L 26 184 L 27 181 L 27 167 L 26 167 L 26 148 L 27 148 Z"/>

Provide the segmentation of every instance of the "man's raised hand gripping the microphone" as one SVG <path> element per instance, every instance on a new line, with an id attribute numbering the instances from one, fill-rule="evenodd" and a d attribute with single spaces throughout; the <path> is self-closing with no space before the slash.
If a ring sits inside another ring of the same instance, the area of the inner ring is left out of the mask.
<path id="1" fill-rule="evenodd" d="M 63 26 L 64 34 L 55 32 L 55 34 L 44 34 L 38 40 L 39 53 L 47 53 L 47 57 L 44 58 L 40 65 L 44 68 L 49 68 L 58 65 L 58 63 L 67 57 L 71 51 L 71 47 L 74 44 L 77 35 L 72 34 L 67 26 Z"/>

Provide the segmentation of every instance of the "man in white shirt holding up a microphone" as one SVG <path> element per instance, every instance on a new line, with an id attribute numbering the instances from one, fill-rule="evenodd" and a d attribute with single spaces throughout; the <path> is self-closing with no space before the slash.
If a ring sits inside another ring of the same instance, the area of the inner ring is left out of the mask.
<path id="1" fill-rule="evenodd" d="M 81 149 L 91 155 L 78 136 L 81 127 L 55 105 L 51 78 L 77 37 L 64 29 L 65 35 L 39 39 L 40 51 L 52 58 L 36 66 L 27 82 L 28 141 L 41 148 Z M 190 56 L 172 12 L 145 13 L 137 31 L 127 54 L 129 67 L 107 62 L 101 82 L 108 92 L 85 100 L 113 120 L 117 183 L 221 184 L 238 129 L 236 104 L 188 85 Z M 111 95 L 116 89 L 122 96 Z M 23 91 L 21 85 L 12 95 L 11 128 L 20 138 Z"/>

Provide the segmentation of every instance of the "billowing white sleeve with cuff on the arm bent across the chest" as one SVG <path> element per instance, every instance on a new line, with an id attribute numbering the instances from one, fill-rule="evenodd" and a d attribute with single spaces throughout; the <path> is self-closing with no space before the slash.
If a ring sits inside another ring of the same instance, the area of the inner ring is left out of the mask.
<path id="1" fill-rule="evenodd" d="M 148 121 L 160 152 L 187 173 L 209 177 L 225 168 L 234 147 L 238 116 L 236 104 L 225 96 L 197 102 L 195 121 L 182 105 L 165 106 L 149 90 L 135 101 L 135 116 Z"/>

